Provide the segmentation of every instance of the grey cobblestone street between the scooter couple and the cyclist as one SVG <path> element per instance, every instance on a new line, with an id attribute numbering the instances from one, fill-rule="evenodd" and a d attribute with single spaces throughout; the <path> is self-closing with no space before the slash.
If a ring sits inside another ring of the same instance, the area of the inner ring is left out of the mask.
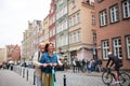
<path id="1" fill-rule="evenodd" d="M 57 86 L 63 85 L 66 75 L 66 86 L 104 86 L 101 76 L 90 76 L 86 73 L 56 72 Z"/>

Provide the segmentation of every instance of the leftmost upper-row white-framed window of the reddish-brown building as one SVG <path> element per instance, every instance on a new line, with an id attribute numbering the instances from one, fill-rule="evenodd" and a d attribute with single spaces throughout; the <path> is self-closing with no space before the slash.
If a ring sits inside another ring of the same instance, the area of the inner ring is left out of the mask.
<path id="1" fill-rule="evenodd" d="M 100 26 L 105 26 L 107 24 L 106 11 L 100 13 Z"/>

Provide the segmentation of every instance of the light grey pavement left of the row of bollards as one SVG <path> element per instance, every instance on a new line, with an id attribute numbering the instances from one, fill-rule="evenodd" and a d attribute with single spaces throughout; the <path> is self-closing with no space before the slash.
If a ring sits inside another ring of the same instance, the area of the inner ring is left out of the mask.
<path id="1" fill-rule="evenodd" d="M 10 70 L 0 70 L 0 86 L 35 86 L 17 73 Z"/>

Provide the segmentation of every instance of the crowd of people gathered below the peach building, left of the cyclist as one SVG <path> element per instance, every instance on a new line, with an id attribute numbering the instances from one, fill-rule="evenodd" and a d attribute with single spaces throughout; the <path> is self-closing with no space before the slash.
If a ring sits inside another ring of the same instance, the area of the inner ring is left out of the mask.
<path id="1" fill-rule="evenodd" d="M 73 60 L 73 72 L 102 72 L 103 68 L 102 68 L 102 60 L 101 59 L 91 59 L 91 60 L 87 60 L 87 59 L 74 59 Z"/>

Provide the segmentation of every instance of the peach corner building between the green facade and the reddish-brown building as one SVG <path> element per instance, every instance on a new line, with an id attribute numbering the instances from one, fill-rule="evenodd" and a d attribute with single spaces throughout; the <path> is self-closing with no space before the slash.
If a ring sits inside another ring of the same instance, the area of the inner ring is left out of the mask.
<path id="1" fill-rule="evenodd" d="M 69 55 L 74 58 L 92 59 L 94 16 L 93 1 L 68 1 Z"/>

